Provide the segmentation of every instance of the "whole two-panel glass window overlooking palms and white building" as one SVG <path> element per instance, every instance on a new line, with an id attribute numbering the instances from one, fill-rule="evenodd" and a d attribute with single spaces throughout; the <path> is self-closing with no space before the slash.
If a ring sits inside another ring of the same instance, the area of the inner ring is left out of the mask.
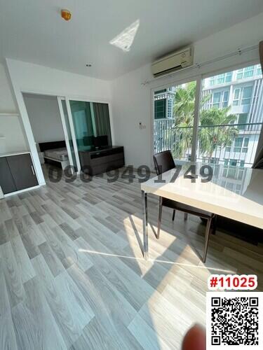
<path id="1" fill-rule="evenodd" d="M 241 176 L 243 167 L 252 167 L 262 130 L 261 67 L 203 78 L 200 89 L 196 84 L 154 92 L 154 153 L 170 149 L 177 162 L 224 165 L 225 174 Z"/>

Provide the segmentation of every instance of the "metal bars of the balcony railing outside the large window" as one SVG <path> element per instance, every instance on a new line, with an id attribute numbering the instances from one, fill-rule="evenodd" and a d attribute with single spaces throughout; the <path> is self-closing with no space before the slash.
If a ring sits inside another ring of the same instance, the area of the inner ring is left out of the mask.
<path id="1" fill-rule="evenodd" d="M 188 160 L 191 156 L 191 139 L 193 127 L 178 127 L 174 125 L 175 119 L 169 120 L 155 120 L 154 121 L 154 151 L 161 152 L 171 149 L 175 155 L 175 158 Z M 257 138 L 261 131 L 263 123 L 235 123 L 235 124 L 222 124 L 222 125 L 201 125 L 198 126 L 198 132 L 208 128 L 212 129 L 210 132 L 210 154 L 208 151 L 201 151 L 201 144 L 198 144 L 197 159 L 210 158 L 210 160 L 220 160 L 224 162 L 224 159 L 234 159 L 236 164 L 248 164 L 252 165 L 254 159 L 255 149 L 257 147 Z M 233 135 L 228 135 L 229 143 L 217 144 L 219 134 L 222 137 L 222 129 L 229 129 Z M 242 138 L 242 144 L 235 144 L 236 138 Z M 246 141 L 243 141 L 246 139 Z M 199 141 L 200 142 L 200 141 Z M 247 142 L 247 144 L 243 144 Z M 250 144 L 250 153 L 248 154 L 248 142 Z M 213 152 L 212 152 L 213 151 Z M 249 158 L 249 159 L 248 159 Z"/>

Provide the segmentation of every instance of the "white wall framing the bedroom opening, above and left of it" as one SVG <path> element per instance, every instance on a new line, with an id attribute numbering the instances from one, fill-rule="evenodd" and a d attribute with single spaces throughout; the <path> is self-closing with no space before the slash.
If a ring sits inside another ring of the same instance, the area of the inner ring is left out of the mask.
<path id="1" fill-rule="evenodd" d="M 18 109 L 25 125 L 25 132 L 30 145 L 30 151 L 39 183 L 45 183 L 39 157 L 34 144 L 34 136 L 30 127 L 29 117 L 22 92 L 35 92 L 39 94 L 53 94 L 76 99 L 90 99 L 96 102 L 111 100 L 111 83 L 100 79 L 81 76 L 79 74 L 59 71 L 37 64 L 6 59 L 8 71 L 11 76 Z"/>

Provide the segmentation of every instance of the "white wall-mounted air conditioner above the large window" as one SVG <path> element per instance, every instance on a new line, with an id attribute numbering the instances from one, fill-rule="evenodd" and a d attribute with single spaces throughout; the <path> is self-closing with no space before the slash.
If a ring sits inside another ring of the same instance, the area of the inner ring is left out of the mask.
<path id="1" fill-rule="evenodd" d="M 151 71 L 156 78 L 191 66 L 193 62 L 194 48 L 189 46 L 158 59 L 151 64 Z"/>

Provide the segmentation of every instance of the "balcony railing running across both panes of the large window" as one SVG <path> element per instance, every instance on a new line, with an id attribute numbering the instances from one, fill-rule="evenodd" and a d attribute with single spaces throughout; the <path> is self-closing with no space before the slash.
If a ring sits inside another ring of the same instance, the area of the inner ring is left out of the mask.
<path id="1" fill-rule="evenodd" d="M 196 160 L 251 167 L 263 123 L 198 127 Z M 170 149 L 177 160 L 191 159 L 193 127 L 177 127 L 175 119 L 154 120 L 154 153 Z"/>

